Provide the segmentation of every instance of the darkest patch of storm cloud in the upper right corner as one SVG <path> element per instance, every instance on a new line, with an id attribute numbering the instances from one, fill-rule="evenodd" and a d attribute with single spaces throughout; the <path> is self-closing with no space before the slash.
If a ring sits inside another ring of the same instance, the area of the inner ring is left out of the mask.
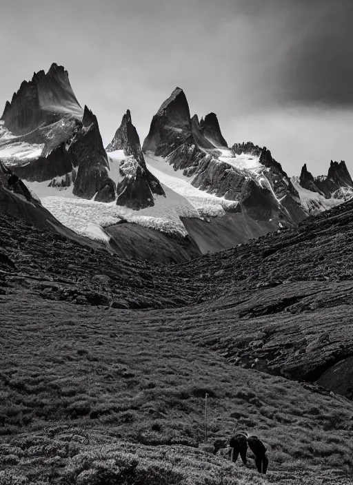
<path id="1" fill-rule="evenodd" d="M 353 3 L 334 0 L 316 4 L 303 18 L 301 37 L 288 50 L 280 78 L 283 98 L 352 106 Z"/>

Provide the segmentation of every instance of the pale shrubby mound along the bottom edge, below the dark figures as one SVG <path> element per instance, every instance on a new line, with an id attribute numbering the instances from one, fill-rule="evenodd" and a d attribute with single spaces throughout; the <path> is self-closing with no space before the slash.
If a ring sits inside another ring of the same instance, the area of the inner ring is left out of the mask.
<path id="1" fill-rule="evenodd" d="M 188 446 L 144 446 L 122 442 L 101 431 L 58 426 L 46 433 L 17 435 L 11 445 L 0 445 L 1 485 L 347 485 L 333 471 L 315 473 L 296 460 L 292 469 L 263 477 L 254 467 L 230 461 Z M 9 468 L 16 465 L 16 471 Z"/>

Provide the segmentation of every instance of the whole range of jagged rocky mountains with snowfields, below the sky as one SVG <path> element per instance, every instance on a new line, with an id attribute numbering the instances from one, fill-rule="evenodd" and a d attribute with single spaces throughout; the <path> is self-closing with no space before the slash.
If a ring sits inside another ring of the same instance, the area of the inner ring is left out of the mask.
<path id="1" fill-rule="evenodd" d="M 191 116 L 179 87 L 152 117 L 142 148 L 127 110 L 104 149 L 96 116 L 57 64 L 6 103 L 0 160 L 72 231 L 130 257 L 139 256 L 137 239 L 142 258 L 161 262 L 293 227 L 353 194 L 343 161 L 316 178 L 305 163 L 291 179 L 267 147 L 229 147 L 216 114 Z"/>

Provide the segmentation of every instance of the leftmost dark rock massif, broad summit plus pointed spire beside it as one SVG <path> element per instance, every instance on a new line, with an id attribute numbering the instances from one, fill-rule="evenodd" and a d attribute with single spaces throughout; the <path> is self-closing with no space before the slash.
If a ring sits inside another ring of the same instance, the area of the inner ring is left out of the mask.
<path id="1" fill-rule="evenodd" d="M 28 163 L 12 159 L 10 165 L 19 177 L 30 182 L 48 180 L 51 187 L 74 184 L 74 195 L 82 198 L 115 199 L 97 118 L 88 107 L 82 110 L 62 66 L 53 64 L 47 73 L 39 71 L 32 81 L 24 81 L 11 103 L 6 103 L 1 119 L 16 136 L 0 139 L 0 145 L 43 145 L 40 156 Z"/>

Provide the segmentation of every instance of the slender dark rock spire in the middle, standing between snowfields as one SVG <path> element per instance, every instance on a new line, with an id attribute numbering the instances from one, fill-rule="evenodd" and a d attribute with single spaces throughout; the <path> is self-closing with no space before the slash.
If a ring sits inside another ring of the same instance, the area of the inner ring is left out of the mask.
<path id="1" fill-rule="evenodd" d="M 121 162 L 122 180 L 117 187 L 117 205 L 143 209 L 154 205 L 154 195 L 165 196 L 159 180 L 147 169 L 139 135 L 132 125 L 130 110 L 123 115 L 121 125 L 107 147 L 108 152 L 123 149 L 126 158 Z"/>

